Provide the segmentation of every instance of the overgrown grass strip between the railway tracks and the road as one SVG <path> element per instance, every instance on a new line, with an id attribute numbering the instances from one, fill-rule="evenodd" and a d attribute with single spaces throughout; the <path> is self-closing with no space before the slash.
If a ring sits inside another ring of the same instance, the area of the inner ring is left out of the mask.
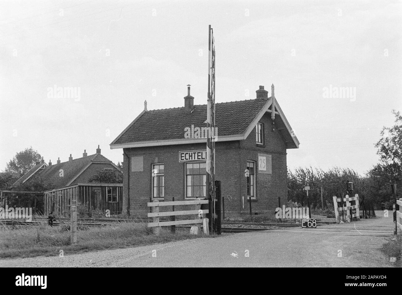
<path id="1" fill-rule="evenodd" d="M 4 226 L 0 230 L 0 258 L 55 256 L 60 250 L 69 255 L 214 236 L 190 235 L 189 229 L 180 228 L 176 229 L 176 234 L 171 234 L 170 227 L 162 228 L 160 234 L 155 235 L 146 223 L 127 222 L 103 227 L 78 227 L 77 237 L 77 244 L 70 246 L 67 224 L 53 227 L 48 224 Z"/>

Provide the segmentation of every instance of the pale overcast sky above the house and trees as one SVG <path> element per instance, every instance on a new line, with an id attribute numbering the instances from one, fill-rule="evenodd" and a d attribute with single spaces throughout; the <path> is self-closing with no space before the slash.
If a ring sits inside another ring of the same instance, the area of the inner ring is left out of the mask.
<path id="1" fill-rule="evenodd" d="M 364 174 L 402 110 L 399 1 L 1 1 L 0 171 L 32 146 L 95 153 L 144 110 L 206 104 L 208 25 L 216 102 L 275 98 L 300 141 L 287 165 Z M 57 98 L 51 89 L 74 87 Z M 340 91 L 342 95 L 336 95 Z M 343 91 L 344 92 L 343 92 Z M 348 93 L 346 92 L 348 90 Z"/>

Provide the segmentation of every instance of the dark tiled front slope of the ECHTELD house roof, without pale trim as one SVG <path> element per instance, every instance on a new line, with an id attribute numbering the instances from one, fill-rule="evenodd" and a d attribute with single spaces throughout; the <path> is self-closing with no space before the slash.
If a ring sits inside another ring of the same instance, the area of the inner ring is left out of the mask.
<path id="1" fill-rule="evenodd" d="M 215 104 L 219 136 L 243 134 L 267 100 L 241 100 Z M 195 105 L 192 113 L 182 108 L 144 112 L 113 144 L 184 138 L 184 128 L 206 127 L 207 105 Z"/>

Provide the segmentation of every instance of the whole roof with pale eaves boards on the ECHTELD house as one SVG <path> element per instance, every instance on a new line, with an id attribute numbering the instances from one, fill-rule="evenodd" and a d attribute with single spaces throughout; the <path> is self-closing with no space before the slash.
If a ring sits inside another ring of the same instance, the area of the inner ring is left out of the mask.
<path id="1" fill-rule="evenodd" d="M 267 99 L 241 100 L 215 104 L 215 126 L 218 138 L 216 141 L 245 139 L 256 122 L 272 109 L 275 102 L 275 118 L 277 127 L 287 135 L 289 149 L 297 148 L 299 141 L 295 137 L 289 122 L 282 113 L 274 96 Z M 205 139 L 185 139 L 185 128 L 206 127 L 207 105 L 194 105 L 193 112 L 185 107 L 162 110 L 144 110 L 127 128 L 111 143 L 111 149 L 139 146 L 156 146 L 165 144 L 186 144 L 202 142 Z"/>

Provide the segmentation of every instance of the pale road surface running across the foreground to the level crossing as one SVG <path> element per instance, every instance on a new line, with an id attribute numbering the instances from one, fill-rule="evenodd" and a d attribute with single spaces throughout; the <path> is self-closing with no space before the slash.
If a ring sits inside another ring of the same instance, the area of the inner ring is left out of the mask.
<path id="1" fill-rule="evenodd" d="M 5 259 L 0 267 L 393 267 L 380 251 L 392 225 L 391 213 L 388 218 L 319 226 L 315 232 L 299 228 L 296 233 L 224 234 L 64 257 Z"/>

